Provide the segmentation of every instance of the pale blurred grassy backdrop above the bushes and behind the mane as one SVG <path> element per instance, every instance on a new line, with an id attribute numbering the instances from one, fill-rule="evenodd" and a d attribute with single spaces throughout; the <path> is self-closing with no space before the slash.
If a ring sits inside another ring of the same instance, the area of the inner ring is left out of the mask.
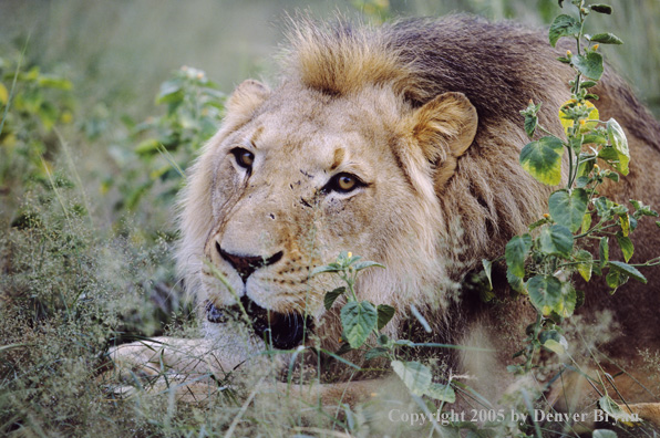
<path id="1" fill-rule="evenodd" d="M 588 24 L 623 39 L 608 59 L 657 108 L 660 1 L 609 3 L 615 14 L 592 14 Z M 64 63 L 90 103 L 138 116 L 152 109 L 159 83 L 182 65 L 204 70 L 226 92 L 243 79 L 270 75 L 285 18 L 297 10 L 370 21 L 470 12 L 533 27 L 560 11 L 556 0 L 2 0 L 0 41 L 22 49 L 29 36 L 31 63 Z"/>

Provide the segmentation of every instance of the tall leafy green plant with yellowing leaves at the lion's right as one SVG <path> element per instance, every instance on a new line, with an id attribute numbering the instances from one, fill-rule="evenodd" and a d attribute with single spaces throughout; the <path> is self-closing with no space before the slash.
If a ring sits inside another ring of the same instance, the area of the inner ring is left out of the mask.
<path id="1" fill-rule="evenodd" d="M 537 312 L 536 321 L 527 328 L 525 348 L 518 356 L 522 365 L 511 366 L 515 373 L 527 373 L 538 366 L 542 346 L 555 353 L 565 353 L 567 341 L 560 324 L 573 315 L 584 302 L 584 293 L 575 289 L 571 279 L 579 274 L 588 282 L 594 275 L 604 275 L 615 293 L 629 279 L 647 282 L 638 270 L 660 264 L 660 258 L 644 263 L 629 264 L 635 251 L 630 234 L 643 217 L 658 217 L 658 212 L 640 200 L 630 200 L 630 207 L 601 196 L 599 187 L 606 179 L 618 182 L 629 173 L 630 153 L 623 131 L 615 121 L 599 119 L 591 101 L 598 96 L 590 92 L 604 73 L 599 44 L 621 44 L 612 33 L 586 34 L 585 20 L 590 12 L 610 14 L 611 7 L 586 4 L 573 0 L 577 17 L 558 15 L 549 29 L 553 46 L 561 38 L 576 42 L 576 53 L 567 51 L 559 62 L 575 70 L 570 81 L 571 98 L 559 108 L 559 121 L 565 137 L 558 137 L 538 123 L 540 103 L 529 102 L 520 114 L 525 131 L 533 138 L 536 132 L 546 136 L 527 144 L 519 161 L 535 179 L 557 186 L 561 182 L 563 156 L 568 158 L 568 175 L 564 188 L 548 198 L 549 213 L 529 226 L 529 232 L 516 236 L 506 244 L 504 259 L 506 277 L 515 291 L 528 296 Z M 563 0 L 559 0 L 563 6 Z M 660 222 L 656 222 L 660 226 Z M 623 261 L 612 260 L 609 246 L 616 241 Z M 597 248 L 597 249 L 596 249 Z M 596 251 L 596 255 L 592 254 Z M 493 262 L 484 260 L 484 270 L 491 282 Z M 492 289 L 492 284 L 488 284 Z M 617 418 L 621 411 L 607 395 L 600 399 L 604 410 Z"/>

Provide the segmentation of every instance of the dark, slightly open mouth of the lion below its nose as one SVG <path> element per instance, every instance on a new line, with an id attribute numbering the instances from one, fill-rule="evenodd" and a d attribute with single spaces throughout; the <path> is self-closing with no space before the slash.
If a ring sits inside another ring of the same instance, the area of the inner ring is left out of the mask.
<path id="1" fill-rule="evenodd" d="M 306 331 L 312 328 L 310 316 L 303 316 L 298 312 L 288 314 L 278 313 L 260 307 L 248 296 L 240 298 L 240 305 L 248 314 L 255 334 L 267 344 L 278 350 L 291 350 L 300 345 L 305 338 Z M 206 304 L 206 320 L 212 323 L 224 323 L 228 320 L 228 313 L 240 315 L 243 312 L 239 304 L 220 310 L 212 302 Z"/>

